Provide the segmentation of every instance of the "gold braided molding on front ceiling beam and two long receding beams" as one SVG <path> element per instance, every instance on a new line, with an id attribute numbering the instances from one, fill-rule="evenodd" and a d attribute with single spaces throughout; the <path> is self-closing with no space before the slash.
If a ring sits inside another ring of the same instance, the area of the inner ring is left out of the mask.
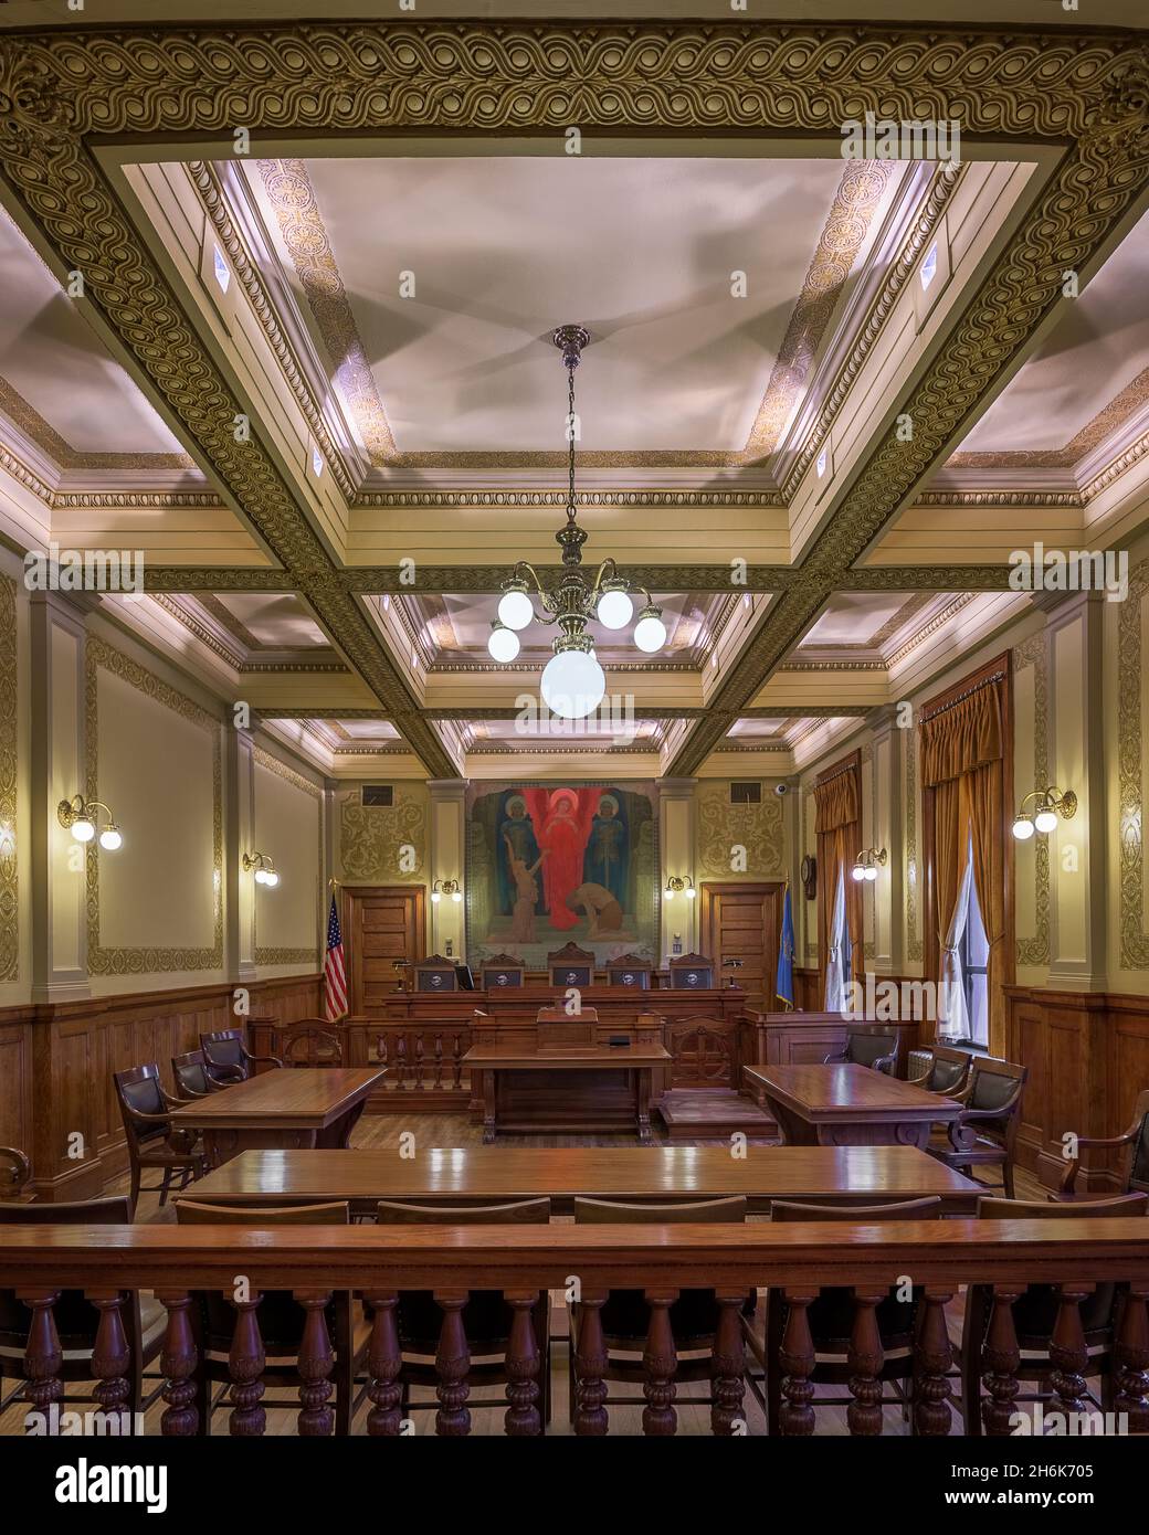
<path id="1" fill-rule="evenodd" d="M 805 632 L 1149 177 L 1149 51 L 1126 34 L 906 31 L 813 23 L 315 23 L 51 32 L 0 40 L 8 186 L 169 408 L 287 579 L 424 758 L 455 764 L 292 487 L 131 227 L 95 137 L 147 140 L 243 123 L 261 134 L 550 130 L 820 134 L 879 117 L 959 118 L 963 137 L 1069 146 L 912 394 L 912 442 L 860 462 L 814 543 L 665 771 L 690 775 Z M 226 589 L 218 579 L 215 589 Z M 942 588 L 945 589 L 945 588 Z M 952 588 L 951 588 L 952 589 Z"/>

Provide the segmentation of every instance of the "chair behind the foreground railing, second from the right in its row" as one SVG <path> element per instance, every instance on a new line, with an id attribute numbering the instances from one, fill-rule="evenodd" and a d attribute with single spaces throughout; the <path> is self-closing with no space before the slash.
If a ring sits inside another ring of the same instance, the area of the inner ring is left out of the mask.
<path id="1" fill-rule="evenodd" d="M 940 1199 L 905 1199 L 892 1205 L 800 1205 L 776 1199 L 770 1207 L 771 1220 L 939 1220 Z M 886 1299 L 876 1309 L 877 1329 L 882 1335 L 883 1362 L 879 1380 L 889 1382 L 896 1401 L 908 1415 L 914 1378 L 914 1329 L 917 1325 L 919 1291 L 911 1300 L 899 1300 L 891 1286 Z M 743 1317 L 742 1332 L 759 1371 L 748 1372 L 750 1389 L 765 1409 L 767 1432 L 782 1432 L 782 1374 L 779 1351 L 786 1329 L 790 1306 L 782 1289 L 767 1291 L 765 1314 Z M 810 1382 L 816 1386 L 843 1386 L 854 1369 L 849 1365 L 849 1339 L 854 1328 L 854 1292 L 849 1286 L 834 1285 L 806 1306 L 806 1320 L 814 1342 L 816 1363 Z M 891 1400 L 885 1398 L 883 1400 Z M 843 1406 L 853 1397 L 816 1397 L 813 1408 Z"/>

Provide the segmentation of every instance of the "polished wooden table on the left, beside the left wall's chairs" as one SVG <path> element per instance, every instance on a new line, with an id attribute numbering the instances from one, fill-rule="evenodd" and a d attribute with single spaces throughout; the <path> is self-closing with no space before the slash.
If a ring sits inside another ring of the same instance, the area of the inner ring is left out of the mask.
<path id="1" fill-rule="evenodd" d="M 212 1162 L 263 1147 L 346 1147 L 382 1076 L 378 1067 L 284 1067 L 177 1108 L 172 1121 L 203 1133 Z"/>

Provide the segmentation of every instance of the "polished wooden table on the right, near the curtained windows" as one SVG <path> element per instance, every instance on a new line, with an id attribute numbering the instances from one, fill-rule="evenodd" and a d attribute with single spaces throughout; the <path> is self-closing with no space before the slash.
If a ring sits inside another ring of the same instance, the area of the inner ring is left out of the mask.
<path id="1" fill-rule="evenodd" d="M 926 1093 L 868 1065 L 747 1067 L 788 1145 L 922 1147 L 929 1127 L 962 1111 L 952 1098 Z"/>

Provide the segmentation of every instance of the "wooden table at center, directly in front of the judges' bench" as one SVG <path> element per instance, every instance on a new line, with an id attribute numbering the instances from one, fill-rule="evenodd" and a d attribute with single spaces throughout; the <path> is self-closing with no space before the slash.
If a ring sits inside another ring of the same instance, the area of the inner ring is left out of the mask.
<path id="1" fill-rule="evenodd" d="M 651 1078 L 670 1065 L 662 1045 L 472 1045 L 462 1058 L 482 1102 L 482 1141 L 502 1131 L 636 1128 L 650 1145 Z"/>

